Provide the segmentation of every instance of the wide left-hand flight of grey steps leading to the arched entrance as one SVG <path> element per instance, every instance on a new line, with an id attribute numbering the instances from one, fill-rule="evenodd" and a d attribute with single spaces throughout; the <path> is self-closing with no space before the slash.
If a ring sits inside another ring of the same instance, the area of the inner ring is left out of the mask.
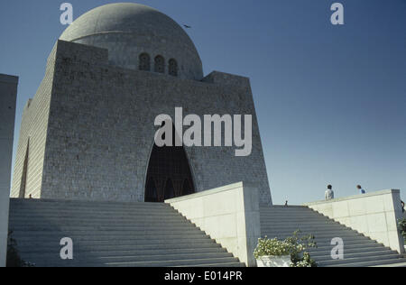
<path id="1" fill-rule="evenodd" d="M 38 267 L 244 266 L 165 204 L 11 199 L 9 228 Z M 60 259 L 63 237 L 72 261 Z"/>

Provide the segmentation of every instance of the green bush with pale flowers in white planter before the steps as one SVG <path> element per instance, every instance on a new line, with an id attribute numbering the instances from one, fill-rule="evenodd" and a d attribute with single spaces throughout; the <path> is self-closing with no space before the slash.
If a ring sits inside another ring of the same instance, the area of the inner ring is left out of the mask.
<path id="1" fill-rule="evenodd" d="M 255 259 L 262 256 L 283 256 L 291 255 L 291 267 L 317 267 L 317 263 L 310 258 L 306 252 L 308 248 L 317 247 L 314 236 L 311 234 L 299 236 L 300 231 L 296 231 L 292 236 L 280 241 L 277 238 L 260 238 L 254 250 Z"/>

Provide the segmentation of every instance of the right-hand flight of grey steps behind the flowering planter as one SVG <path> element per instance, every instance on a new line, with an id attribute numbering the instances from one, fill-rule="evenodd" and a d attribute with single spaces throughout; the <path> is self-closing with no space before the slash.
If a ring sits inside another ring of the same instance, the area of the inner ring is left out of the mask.
<path id="1" fill-rule="evenodd" d="M 303 234 L 313 234 L 317 249 L 309 250 L 319 267 L 367 267 L 367 266 L 405 266 L 406 258 L 390 248 L 354 230 L 322 216 L 309 207 L 260 207 L 261 230 L 263 236 L 281 239 L 300 229 Z M 342 261 L 332 260 L 330 245 L 335 237 L 344 241 Z"/>

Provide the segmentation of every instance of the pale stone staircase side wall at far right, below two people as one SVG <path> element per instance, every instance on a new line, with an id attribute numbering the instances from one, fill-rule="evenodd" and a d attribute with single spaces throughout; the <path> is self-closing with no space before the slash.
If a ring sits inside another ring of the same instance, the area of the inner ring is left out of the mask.
<path id="1" fill-rule="evenodd" d="M 404 253 L 403 238 L 397 224 L 402 217 L 401 191 L 383 190 L 348 198 L 306 204 L 353 230 Z"/>

